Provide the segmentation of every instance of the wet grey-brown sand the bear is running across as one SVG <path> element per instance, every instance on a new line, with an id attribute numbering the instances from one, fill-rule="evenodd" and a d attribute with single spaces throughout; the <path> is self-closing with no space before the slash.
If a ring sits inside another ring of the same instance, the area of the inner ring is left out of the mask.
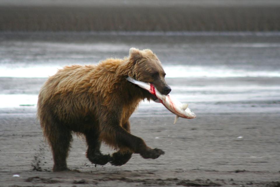
<path id="1" fill-rule="evenodd" d="M 28 115 L 25 115 L 25 111 Z M 84 140 L 76 138 L 67 160 L 80 172 L 51 172 L 35 109 L 0 116 L 0 186 L 279 186 L 277 113 L 131 117 L 132 134 L 165 155 L 145 160 L 134 154 L 121 167 L 92 165 Z M 240 138 L 242 136 L 242 138 Z M 239 138 L 238 138 L 239 137 Z M 113 150 L 102 146 L 103 153 Z M 20 177 L 13 177 L 14 174 Z"/>

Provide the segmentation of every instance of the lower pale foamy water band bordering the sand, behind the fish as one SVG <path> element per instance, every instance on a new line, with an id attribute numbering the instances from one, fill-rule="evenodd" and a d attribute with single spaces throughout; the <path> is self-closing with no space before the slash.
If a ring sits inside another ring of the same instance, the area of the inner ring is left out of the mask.
<path id="1" fill-rule="evenodd" d="M 280 112 L 280 85 L 233 85 L 233 86 L 182 86 L 170 85 L 171 94 L 182 103 L 189 103 L 195 113 L 235 113 L 235 112 Z M 39 89 L 39 88 L 38 88 Z M 0 94 L 0 108 L 6 113 L 10 109 L 36 110 L 37 94 Z M 5 114 L 6 115 L 6 114 Z M 18 115 L 16 112 L 15 115 Z M 135 116 L 171 114 L 160 103 L 143 101 Z"/>

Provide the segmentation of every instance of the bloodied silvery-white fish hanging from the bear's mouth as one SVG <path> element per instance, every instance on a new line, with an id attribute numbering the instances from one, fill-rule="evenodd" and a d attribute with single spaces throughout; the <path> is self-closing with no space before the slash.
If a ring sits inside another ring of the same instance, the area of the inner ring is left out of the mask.
<path id="1" fill-rule="evenodd" d="M 186 119 L 194 119 L 196 118 L 196 115 L 190 108 L 188 108 L 187 103 L 181 103 L 176 98 L 171 96 L 171 94 L 163 95 L 161 94 L 157 88 L 147 82 L 137 81 L 135 79 L 132 79 L 131 77 L 126 78 L 129 82 L 132 82 L 133 84 L 138 85 L 140 88 L 143 88 L 147 91 L 149 91 L 151 94 L 157 97 L 155 100 L 156 103 L 162 103 L 165 108 L 167 108 L 170 112 L 174 113 L 175 119 L 174 124 L 176 124 L 179 117 L 186 118 Z"/>

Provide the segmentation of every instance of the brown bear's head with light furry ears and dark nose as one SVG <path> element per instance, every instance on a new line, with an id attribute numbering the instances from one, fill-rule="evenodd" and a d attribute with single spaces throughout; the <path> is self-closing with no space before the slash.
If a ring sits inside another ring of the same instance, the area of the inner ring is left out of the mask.
<path id="1" fill-rule="evenodd" d="M 153 84 L 161 94 L 167 95 L 171 91 L 164 80 L 166 74 L 160 60 L 153 51 L 131 48 L 129 50 L 129 61 L 133 64 L 130 77 Z"/>

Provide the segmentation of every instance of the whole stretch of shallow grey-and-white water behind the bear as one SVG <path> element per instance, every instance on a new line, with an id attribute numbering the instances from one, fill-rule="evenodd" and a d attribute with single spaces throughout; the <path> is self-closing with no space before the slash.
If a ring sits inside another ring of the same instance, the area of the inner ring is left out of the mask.
<path id="1" fill-rule="evenodd" d="M 126 35 L 125 35 L 126 34 Z M 0 108 L 35 107 L 57 69 L 153 50 L 174 96 L 198 113 L 279 112 L 278 32 L 2 33 Z M 143 103 L 136 115 L 167 114 Z"/>

